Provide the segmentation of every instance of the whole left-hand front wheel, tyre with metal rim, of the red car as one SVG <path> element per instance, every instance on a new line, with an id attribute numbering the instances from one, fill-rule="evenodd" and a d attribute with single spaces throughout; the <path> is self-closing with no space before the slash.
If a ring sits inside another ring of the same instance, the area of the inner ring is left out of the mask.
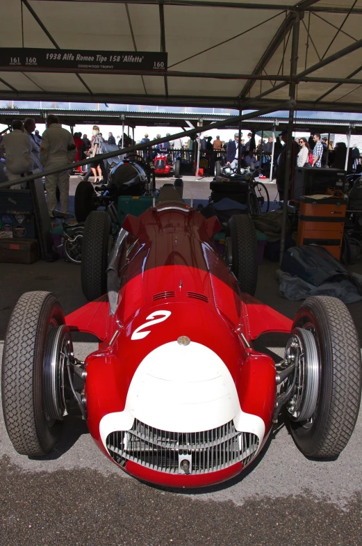
<path id="1" fill-rule="evenodd" d="M 8 323 L 3 415 L 13 446 L 27 456 L 46 455 L 60 439 L 65 410 L 62 351 L 72 351 L 64 323 L 56 296 L 42 291 L 23 294 Z"/>

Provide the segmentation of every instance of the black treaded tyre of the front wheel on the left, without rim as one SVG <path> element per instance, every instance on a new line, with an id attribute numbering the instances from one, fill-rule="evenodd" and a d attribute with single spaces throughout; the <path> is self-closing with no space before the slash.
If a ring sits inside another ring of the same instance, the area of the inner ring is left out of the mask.
<path id="1" fill-rule="evenodd" d="M 44 411 L 44 358 L 51 328 L 65 323 L 62 307 L 50 292 L 26 292 L 10 316 L 3 348 L 3 416 L 18 453 L 44 456 L 60 439 L 63 421 Z"/>

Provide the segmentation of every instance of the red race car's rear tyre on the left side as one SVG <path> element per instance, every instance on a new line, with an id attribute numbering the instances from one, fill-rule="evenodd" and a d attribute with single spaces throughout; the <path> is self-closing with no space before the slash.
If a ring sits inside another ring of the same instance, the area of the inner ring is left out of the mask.
<path id="1" fill-rule="evenodd" d="M 83 294 L 89 301 L 100 298 L 107 291 L 110 228 L 110 216 L 106 211 L 92 211 L 85 220 L 81 282 Z"/>

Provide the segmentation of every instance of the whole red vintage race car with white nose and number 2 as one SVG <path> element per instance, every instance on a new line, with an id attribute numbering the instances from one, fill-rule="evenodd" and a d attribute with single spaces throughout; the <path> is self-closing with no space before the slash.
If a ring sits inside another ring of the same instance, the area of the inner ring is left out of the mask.
<path id="1" fill-rule="evenodd" d="M 3 412 L 19 453 L 44 456 L 65 415 L 81 412 L 99 449 L 138 479 L 195 488 L 230 479 L 261 452 L 281 410 L 305 456 L 334 458 L 359 412 L 361 353 L 347 307 L 308 298 L 294 321 L 254 299 L 251 218 L 233 216 L 224 257 L 217 218 L 173 188 L 127 216 L 113 250 L 110 217 L 85 223 L 82 286 L 64 317 L 48 292 L 24 294 L 3 351 Z M 99 349 L 76 359 L 72 332 Z M 288 335 L 278 364 L 254 348 Z"/>

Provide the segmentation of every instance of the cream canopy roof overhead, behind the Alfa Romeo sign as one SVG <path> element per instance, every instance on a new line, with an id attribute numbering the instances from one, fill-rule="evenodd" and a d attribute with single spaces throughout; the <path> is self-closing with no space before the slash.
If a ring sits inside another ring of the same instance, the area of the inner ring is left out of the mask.
<path id="1" fill-rule="evenodd" d="M 0 70 L 0 99 L 362 111 L 362 0 L 6 0 L 1 47 L 166 51 L 167 72 Z"/>

